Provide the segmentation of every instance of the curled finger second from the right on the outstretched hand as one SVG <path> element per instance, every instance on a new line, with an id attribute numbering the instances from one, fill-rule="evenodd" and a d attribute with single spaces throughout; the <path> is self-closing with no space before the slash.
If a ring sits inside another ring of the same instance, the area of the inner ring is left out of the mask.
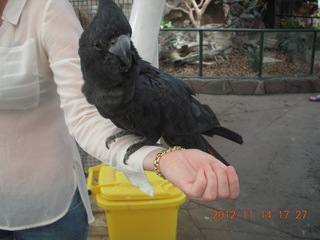
<path id="1" fill-rule="evenodd" d="M 215 172 L 218 181 L 217 199 L 229 198 L 230 190 L 226 171 L 216 163 L 211 164 L 211 167 Z"/>

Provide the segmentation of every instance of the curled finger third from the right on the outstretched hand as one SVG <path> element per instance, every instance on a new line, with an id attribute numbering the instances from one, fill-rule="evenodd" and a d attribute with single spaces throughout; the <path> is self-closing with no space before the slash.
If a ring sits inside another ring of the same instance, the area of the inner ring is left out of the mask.
<path id="1" fill-rule="evenodd" d="M 205 168 L 206 188 L 201 196 L 200 201 L 209 202 L 217 199 L 218 179 L 211 166 Z"/>

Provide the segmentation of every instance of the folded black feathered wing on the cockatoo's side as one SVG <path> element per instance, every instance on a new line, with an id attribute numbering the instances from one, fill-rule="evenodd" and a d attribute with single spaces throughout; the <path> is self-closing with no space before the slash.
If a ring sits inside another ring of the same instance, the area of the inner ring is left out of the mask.
<path id="1" fill-rule="evenodd" d="M 197 132 L 201 114 L 192 90 L 182 81 L 142 63 L 133 98 L 132 124 L 146 137 L 189 135 Z"/>

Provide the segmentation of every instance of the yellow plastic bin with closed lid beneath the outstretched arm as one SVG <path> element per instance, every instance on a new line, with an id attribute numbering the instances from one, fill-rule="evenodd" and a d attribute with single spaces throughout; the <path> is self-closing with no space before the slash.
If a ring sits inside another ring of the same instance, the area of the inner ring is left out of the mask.
<path id="1" fill-rule="evenodd" d="M 152 198 L 106 164 L 89 168 L 88 173 L 88 189 L 106 211 L 110 240 L 176 239 L 179 205 L 186 199 L 180 189 L 146 171 L 154 187 Z"/>

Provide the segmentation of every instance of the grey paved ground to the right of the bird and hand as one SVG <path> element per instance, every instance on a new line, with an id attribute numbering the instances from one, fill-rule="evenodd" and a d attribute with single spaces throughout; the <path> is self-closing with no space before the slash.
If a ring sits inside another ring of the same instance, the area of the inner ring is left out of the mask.
<path id="1" fill-rule="evenodd" d="M 199 96 L 244 137 L 242 146 L 212 141 L 236 167 L 241 196 L 187 201 L 178 240 L 320 239 L 320 103 L 309 96 Z"/>

